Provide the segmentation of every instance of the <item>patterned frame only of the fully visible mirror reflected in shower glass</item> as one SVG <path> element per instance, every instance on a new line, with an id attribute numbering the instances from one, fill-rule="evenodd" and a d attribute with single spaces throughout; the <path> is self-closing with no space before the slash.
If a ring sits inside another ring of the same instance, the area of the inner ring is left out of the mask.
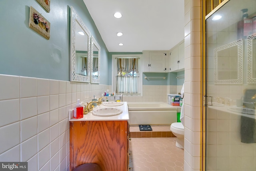
<path id="1" fill-rule="evenodd" d="M 238 76 L 237 80 L 218 80 L 218 51 L 237 46 L 238 54 Z M 243 40 L 236 40 L 224 46 L 214 49 L 214 84 L 242 84 L 243 82 Z"/>

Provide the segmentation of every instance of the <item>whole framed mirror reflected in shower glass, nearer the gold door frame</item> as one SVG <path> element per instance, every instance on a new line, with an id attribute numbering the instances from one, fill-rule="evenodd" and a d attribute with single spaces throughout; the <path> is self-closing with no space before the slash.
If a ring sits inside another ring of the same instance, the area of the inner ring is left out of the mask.
<path id="1" fill-rule="evenodd" d="M 214 84 L 242 84 L 243 41 L 214 49 Z"/>

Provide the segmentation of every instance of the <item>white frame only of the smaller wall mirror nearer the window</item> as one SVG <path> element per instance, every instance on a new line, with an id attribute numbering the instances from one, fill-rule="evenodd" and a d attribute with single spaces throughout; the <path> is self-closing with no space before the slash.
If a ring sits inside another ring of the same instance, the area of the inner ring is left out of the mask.
<path id="1" fill-rule="evenodd" d="M 95 38 L 92 36 L 92 44 L 91 44 L 91 83 L 100 83 L 100 45 L 97 43 Z M 96 46 L 99 50 L 98 53 L 98 79 L 93 78 L 92 70 L 93 70 L 93 47 Z"/>

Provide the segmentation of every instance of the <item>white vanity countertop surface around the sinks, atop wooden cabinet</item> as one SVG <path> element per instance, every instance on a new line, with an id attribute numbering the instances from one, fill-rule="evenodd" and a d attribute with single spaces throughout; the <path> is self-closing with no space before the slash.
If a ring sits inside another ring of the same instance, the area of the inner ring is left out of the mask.
<path id="1" fill-rule="evenodd" d="M 106 102 L 103 102 L 103 103 L 106 103 Z M 76 119 L 76 118 L 73 118 L 73 113 L 70 112 L 71 119 L 69 119 L 69 121 L 128 121 L 129 120 L 128 105 L 126 101 L 122 101 L 122 103 L 124 104 L 120 106 L 113 106 L 114 108 L 122 109 L 123 112 L 120 115 L 95 116 L 95 115 L 92 115 L 92 112 L 89 112 L 85 114 L 83 118 Z M 104 106 L 103 104 L 97 105 L 96 107 L 94 107 L 94 110 L 99 108 L 105 108 L 105 107 L 109 107 L 109 106 Z"/>

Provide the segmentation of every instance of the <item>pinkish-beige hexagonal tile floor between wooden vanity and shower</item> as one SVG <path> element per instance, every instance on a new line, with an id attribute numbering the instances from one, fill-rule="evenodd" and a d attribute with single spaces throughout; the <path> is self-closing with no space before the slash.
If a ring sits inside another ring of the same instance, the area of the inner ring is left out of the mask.
<path id="1" fill-rule="evenodd" d="M 175 137 L 131 138 L 130 171 L 184 171 L 184 149 Z"/>

